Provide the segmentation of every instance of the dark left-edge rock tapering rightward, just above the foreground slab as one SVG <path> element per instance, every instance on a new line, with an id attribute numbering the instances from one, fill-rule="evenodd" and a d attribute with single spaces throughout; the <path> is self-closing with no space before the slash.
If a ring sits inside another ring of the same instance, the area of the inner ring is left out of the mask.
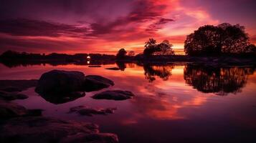
<path id="1" fill-rule="evenodd" d="M 41 109 L 26 109 L 19 104 L 0 100 L 0 119 L 24 116 L 39 116 L 41 114 Z"/>

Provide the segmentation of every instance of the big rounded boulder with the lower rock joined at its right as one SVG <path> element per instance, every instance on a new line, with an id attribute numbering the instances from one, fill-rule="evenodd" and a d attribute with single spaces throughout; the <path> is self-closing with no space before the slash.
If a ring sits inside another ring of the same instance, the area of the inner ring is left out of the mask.
<path id="1" fill-rule="evenodd" d="M 35 91 L 39 94 L 93 92 L 113 86 L 114 82 L 98 75 L 85 77 L 80 71 L 52 70 L 42 74 Z"/>

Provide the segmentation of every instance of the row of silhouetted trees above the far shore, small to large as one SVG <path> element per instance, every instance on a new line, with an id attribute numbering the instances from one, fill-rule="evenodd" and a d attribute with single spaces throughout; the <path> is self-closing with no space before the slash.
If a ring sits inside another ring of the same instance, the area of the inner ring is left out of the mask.
<path id="1" fill-rule="evenodd" d="M 151 38 L 145 42 L 144 57 L 153 55 L 174 55 L 173 44 L 163 40 L 160 44 Z M 245 32 L 245 26 L 228 23 L 217 26 L 205 25 L 186 36 L 184 52 L 188 56 L 225 56 L 225 55 L 255 55 L 256 46 L 250 43 L 250 38 Z M 134 56 L 130 51 L 127 55 L 125 49 L 118 51 L 117 59 L 125 56 Z"/>

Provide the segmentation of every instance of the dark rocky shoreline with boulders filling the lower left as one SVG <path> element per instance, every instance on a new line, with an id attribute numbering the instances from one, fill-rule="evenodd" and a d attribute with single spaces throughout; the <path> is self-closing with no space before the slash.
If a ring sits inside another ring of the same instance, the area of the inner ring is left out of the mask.
<path id="1" fill-rule="evenodd" d="M 79 71 L 53 70 L 42 74 L 39 80 L 2 80 L 0 83 L 0 142 L 118 142 L 116 134 L 101 133 L 97 124 L 43 117 L 42 109 L 27 109 L 11 102 L 29 98 L 20 92 L 36 87 L 35 92 L 48 102 L 62 104 L 84 97 L 85 92 L 113 86 L 110 79 L 85 76 Z M 130 99 L 134 96 L 127 91 L 107 92 L 105 99 Z M 104 93 L 101 93 L 102 99 Z M 69 113 L 106 115 L 113 114 L 115 109 L 77 106 L 70 108 Z"/>

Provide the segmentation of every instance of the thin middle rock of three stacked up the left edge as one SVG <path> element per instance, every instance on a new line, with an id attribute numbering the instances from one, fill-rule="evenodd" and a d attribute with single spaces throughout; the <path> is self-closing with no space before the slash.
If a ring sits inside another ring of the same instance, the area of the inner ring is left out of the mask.
<path id="1" fill-rule="evenodd" d="M 25 94 L 18 94 L 18 93 L 9 93 L 9 92 L 4 92 L 4 91 L 0 91 L 0 99 L 4 99 L 4 100 L 15 100 L 15 99 L 27 99 L 29 98 L 27 95 Z"/>

